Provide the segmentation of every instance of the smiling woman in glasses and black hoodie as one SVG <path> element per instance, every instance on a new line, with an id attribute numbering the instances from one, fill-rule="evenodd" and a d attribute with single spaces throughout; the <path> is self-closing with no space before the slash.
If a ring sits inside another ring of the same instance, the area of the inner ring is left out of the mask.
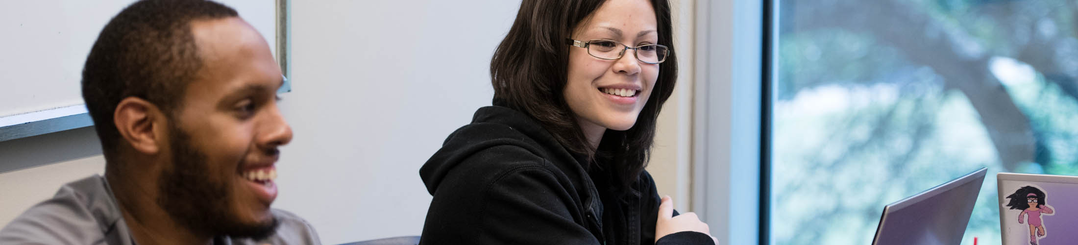
<path id="1" fill-rule="evenodd" d="M 490 60 L 494 106 L 419 171 L 420 243 L 713 244 L 644 169 L 672 31 L 665 0 L 524 0 Z"/>

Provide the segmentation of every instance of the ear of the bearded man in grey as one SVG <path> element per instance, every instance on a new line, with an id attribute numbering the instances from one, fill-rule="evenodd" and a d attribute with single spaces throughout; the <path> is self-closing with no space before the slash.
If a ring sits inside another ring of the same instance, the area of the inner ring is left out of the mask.
<path id="1" fill-rule="evenodd" d="M 156 154 L 165 144 L 168 121 L 157 106 L 138 97 L 126 97 L 116 105 L 112 121 L 124 141 L 138 152 Z"/>

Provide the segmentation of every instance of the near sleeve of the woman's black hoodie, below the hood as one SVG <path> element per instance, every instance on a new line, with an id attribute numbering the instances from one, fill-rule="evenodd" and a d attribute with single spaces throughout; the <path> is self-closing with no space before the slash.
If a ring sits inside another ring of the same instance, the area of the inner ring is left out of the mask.
<path id="1" fill-rule="evenodd" d="M 600 244 L 566 179 L 499 147 L 454 169 L 433 193 L 420 244 Z M 490 163 L 490 164 L 484 164 Z"/>

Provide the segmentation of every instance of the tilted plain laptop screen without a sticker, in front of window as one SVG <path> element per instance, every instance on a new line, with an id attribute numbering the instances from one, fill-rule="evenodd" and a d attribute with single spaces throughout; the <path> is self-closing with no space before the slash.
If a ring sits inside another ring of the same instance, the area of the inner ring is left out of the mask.
<path id="1" fill-rule="evenodd" d="M 883 207 L 873 245 L 962 243 L 987 168 Z"/>

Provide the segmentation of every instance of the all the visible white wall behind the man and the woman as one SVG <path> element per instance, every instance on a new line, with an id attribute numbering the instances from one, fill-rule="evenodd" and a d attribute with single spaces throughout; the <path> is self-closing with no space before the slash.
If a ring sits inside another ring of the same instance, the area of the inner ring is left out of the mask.
<path id="1" fill-rule="evenodd" d="M 281 149 L 274 206 L 313 222 L 326 244 L 418 235 L 430 202 L 418 169 L 489 105 L 489 58 L 519 4 L 293 0 L 292 92 L 280 105 L 294 138 Z M 676 5 L 691 16 L 691 2 Z M 693 41 L 679 37 L 691 36 L 693 17 L 675 19 L 681 80 L 649 171 L 685 210 Z M 97 144 L 88 127 L 0 142 L 4 164 L 56 163 L 0 174 L 0 223 L 64 182 L 102 173 Z"/>

